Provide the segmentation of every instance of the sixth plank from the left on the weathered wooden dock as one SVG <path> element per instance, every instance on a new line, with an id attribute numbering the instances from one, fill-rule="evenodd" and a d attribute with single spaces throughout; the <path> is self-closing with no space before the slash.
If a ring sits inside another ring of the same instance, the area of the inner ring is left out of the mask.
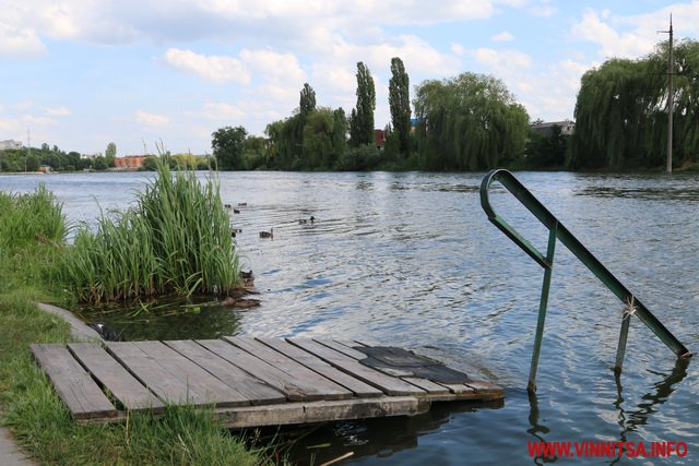
<path id="1" fill-rule="evenodd" d="M 242 349 L 222 339 L 198 339 L 197 343 L 249 374 L 284 393 L 293 402 L 323 399 L 322 391 L 304 380 L 268 365 Z"/>

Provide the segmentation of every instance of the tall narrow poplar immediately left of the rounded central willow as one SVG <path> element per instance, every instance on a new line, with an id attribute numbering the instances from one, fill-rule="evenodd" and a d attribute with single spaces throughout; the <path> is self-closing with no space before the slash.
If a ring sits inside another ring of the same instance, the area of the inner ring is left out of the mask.
<path id="1" fill-rule="evenodd" d="M 391 80 L 389 81 L 389 106 L 391 122 L 399 142 L 399 152 L 407 157 L 411 151 L 411 98 L 410 79 L 403 60 L 391 59 Z"/>

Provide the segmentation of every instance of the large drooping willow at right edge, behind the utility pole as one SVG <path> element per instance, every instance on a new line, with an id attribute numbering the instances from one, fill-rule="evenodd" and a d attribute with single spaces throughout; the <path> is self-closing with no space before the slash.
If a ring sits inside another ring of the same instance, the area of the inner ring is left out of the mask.
<path id="1" fill-rule="evenodd" d="M 588 71 L 576 104 L 570 168 L 662 166 L 667 147 L 667 43 L 640 60 Z M 699 154 L 699 43 L 675 48 L 673 145 L 679 163 Z"/>

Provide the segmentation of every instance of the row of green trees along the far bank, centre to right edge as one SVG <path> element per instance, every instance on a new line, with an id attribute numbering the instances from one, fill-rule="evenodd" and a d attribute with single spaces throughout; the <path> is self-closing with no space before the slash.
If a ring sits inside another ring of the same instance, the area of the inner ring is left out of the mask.
<path id="1" fill-rule="evenodd" d="M 318 106 L 306 83 L 293 115 L 268 124 L 264 136 L 225 127 L 212 134 L 212 148 L 218 168 L 229 170 L 659 168 L 667 156 L 667 47 L 666 41 L 641 59 L 611 59 L 588 71 L 572 135 L 557 126 L 534 131 L 524 107 L 491 75 L 464 72 L 424 81 L 415 86 L 411 107 L 410 79 L 395 57 L 391 122 L 381 150 L 374 142 L 374 80 L 363 62 L 350 116 Z M 683 40 L 673 65 L 677 165 L 699 169 L 699 43 Z"/>

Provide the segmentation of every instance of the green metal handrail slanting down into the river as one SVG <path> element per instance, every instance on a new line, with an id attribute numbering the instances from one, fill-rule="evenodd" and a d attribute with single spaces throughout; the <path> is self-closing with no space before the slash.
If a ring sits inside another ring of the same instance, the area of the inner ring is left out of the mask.
<path id="1" fill-rule="evenodd" d="M 524 239 L 514 228 L 498 216 L 488 199 L 488 189 L 494 181 L 499 181 L 514 198 L 517 198 L 534 216 L 548 228 L 548 248 L 546 255 L 542 254 L 534 246 Z M 648 310 L 645 306 L 626 288 L 621 282 L 615 277 L 603 264 L 590 252 L 559 220 L 556 218 L 517 178 L 508 170 L 493 170 L 488 172 L 481 183 L 481 205 L 488 216 L 508 238 L 522 248 L 538 265 L 544 268 L 544 284 L 538 304 L 538 319 L 536 322 L 536 335 L 534 338 L 534 350 L 532 353 L 532 366 L 530 368 L 529 384 L 530 391 L 536 390 L 536 368 L 541 354 L 542 337 L 544 335 L 544 322 L 546 320 L 546 307 L 548 304 L 548 290 L 550 287 L 550 276 L 554 268 L 554 251 L 556 239 L 560 240 L 570 252 L 576 255 L 600 280 L 614 292 L 626 306 L 621 318 L 621 331 L 619 334 L 619 345 L 616 351 L 615 370 L 621 371 L 624 354 L 626 353 L 626 340 L 629 332 L 629 321 L 631 315 L 638 315 L 650 330 L 662 339 L 675 355 L 680 358 L 691 357 L 691 353 Z"/>

